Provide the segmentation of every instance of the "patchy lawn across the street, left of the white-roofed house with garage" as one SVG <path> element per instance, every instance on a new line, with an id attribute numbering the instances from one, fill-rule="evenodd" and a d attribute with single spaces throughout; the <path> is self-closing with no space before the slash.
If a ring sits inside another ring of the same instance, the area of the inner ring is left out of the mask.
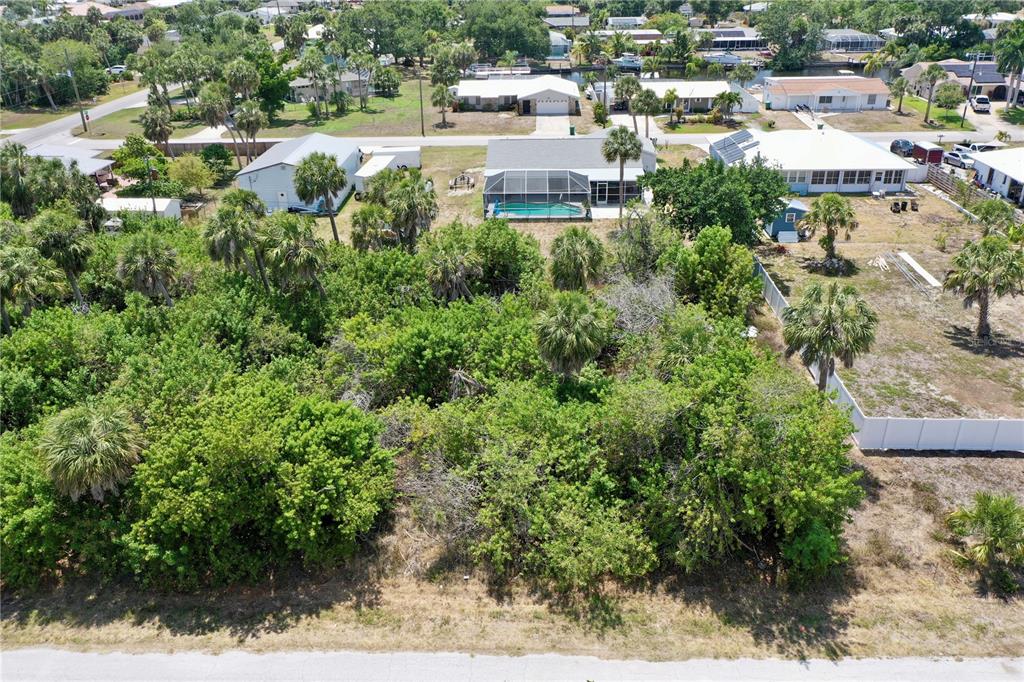
<path id="1" fill-rule="evenodd" d="M 446 114 L 447 126 L 441 127 L 441 115 L 430 104 L 430 83 L 423 84 L 423 114 L 428 135 L 524 135 L 537 128 L 537 119 L 511 112 L 458 112 Z M 333 112 L 333 109 L 332 109 Z M 579 122 L 586 117 L 571 117 Z M 591 121 L 593 116 L 590 117 Z M 377 137 L 420 134 L 420 91 L 415 80 L 402 81 L 394 97 L 373 97 L 366 111 L 353 109 L 344 116 L 316 121 L 306 104 L 290 102 L 278 119 L 260 135 L 298 137 L 311 132 L 352 137 Z"/>

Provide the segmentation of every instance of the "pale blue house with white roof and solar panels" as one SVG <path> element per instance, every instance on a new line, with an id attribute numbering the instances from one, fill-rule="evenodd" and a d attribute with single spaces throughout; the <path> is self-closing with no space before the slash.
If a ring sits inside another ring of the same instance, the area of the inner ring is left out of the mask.
<path id="1" fill-rule="evenodd" d="M 925 168 L 835 128 L 740 130 L 712 142 L 711 156 L 730 165 L 760 158 L 800 195 L 902 191 L 910 174 Z"/>

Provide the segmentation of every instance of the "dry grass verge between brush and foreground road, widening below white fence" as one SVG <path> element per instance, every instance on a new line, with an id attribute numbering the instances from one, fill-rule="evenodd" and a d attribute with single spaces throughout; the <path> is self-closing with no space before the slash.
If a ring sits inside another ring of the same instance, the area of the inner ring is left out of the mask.
<path id="1" fill-rule="evenodd" d="M 524 587 L 495 594 L 461 568 L 428 572 L 426 539 L 398 512 L 365 560 L 273 585 L 162 594 L 134 587 L 5 597 L 7 647 L 556 651 L 607 657 L 1019 655 L 1021 600 L 954 567 L 940 519 L 978 489 L 1024 489 L 1024 460 L 864 457 L 867 499 L 838 585 L 806 593 L 748 569 L 612 590 L 600 607 Z"/>

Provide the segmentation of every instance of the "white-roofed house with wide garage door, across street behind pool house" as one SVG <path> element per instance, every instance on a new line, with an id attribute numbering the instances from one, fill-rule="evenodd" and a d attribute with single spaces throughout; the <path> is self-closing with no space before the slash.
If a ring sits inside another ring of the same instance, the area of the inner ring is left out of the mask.
<path id="1" fill-rule="evenodd" d="M 460 110 L 556 116 L 580 113 L 580 87 L 557 76 L 464 80 L 452 86 Z"/>

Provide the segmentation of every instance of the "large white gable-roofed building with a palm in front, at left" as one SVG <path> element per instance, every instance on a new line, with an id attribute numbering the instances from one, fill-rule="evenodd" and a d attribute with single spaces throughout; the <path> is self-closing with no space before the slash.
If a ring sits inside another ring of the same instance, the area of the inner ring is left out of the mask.
<path id="1" fill-rule="evenodd" d="M 321 201 L 305 203 L 295 194 L 295 167 L 313 152 L 334 155 L 345 169 L 348 183 L 335 198 L 335 208 L 348 196 L 359 168 L 359 146 L 353 139 L 312 133 L 278 142 L 243 168 L 236 176 L 243 189 L 255 191 L 271 211 L 318 208 Z"/>

